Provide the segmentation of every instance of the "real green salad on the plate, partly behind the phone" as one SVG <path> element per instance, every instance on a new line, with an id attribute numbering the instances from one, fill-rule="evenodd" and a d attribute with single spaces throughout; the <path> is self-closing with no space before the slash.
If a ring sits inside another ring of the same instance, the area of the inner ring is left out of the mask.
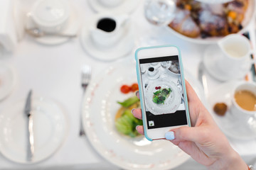
<path id="1" fill-rule="evenodd" d="M 115 116 L 115 127 L 117 131 L 129 137 L 139 136 L 140 134 L 137 132 L 136 126 L 142 125 L 142 120 L 132 115 L 132 109 L 140 107 L 139 98 L 133 96 L 123 102 L 117 103 L 121 105 L 121 108 L 119 108 Z"/>

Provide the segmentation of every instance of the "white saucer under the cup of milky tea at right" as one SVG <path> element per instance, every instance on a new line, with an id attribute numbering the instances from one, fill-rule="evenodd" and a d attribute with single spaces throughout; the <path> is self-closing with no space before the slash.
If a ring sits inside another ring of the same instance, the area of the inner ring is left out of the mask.
<path id="1" fill-rule="evenodd" d="M 218 124 L 220 129 L 228 135 L 238 140 L 252 140 L 256 138 L 256 121 L 248 121 L 247 123 L 235 118 L 230 111 L 227 111 L 224 116 L 216 115 L 213 111 L 215 103 L 226 103 L 228 108 L 231 105 L 231 91 L 239 84 L 239 81 L 229 81 L 221 84 L 213 93 L 210 94 L 208 101 L 210 103 L 210 112 Z"/>

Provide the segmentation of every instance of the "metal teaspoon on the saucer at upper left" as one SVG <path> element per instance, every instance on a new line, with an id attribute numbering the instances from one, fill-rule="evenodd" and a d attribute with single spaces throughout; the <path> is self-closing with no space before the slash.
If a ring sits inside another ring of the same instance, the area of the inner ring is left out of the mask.
<path id="1" fill-rule="evenodd" d="M 30 28 L 26 29 L 26 33 L 29 35 L 32 35 L 33 37 L 36 38 L 41 38 L 45 36 L 58 36 L 58 37 L 65 37 L 65 38 L 75 38 L 77 35 L 76 34 L 64 34 L 64 33 L 46 33 L 45 31 L 39 29 L 39 28 Z"/>

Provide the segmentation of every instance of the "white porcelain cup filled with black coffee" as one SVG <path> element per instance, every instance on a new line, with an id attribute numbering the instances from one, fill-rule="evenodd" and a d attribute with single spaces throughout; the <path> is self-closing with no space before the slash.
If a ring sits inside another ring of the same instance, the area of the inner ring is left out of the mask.
<path id="1" fill-rule="evenodd" d="M 90 35 L 98 47 L 111 47 L 121 40 L 129 26 L 129 16 L 98 16 L 90 29 Z"/>

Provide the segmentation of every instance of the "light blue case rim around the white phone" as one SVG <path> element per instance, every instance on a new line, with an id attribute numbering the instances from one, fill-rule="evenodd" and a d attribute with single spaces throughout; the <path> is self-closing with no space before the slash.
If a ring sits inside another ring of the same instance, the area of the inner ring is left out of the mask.
<path id="1" fill-rule="evenodd" d="M 139 84 L 139 96 L 142 96 L 142 86 L 141 86 L 141 80 L 140 80 L 140 69 L 139 69 L 139 60 L 138 60 L 138 52 L 140 50 L 145 50 L 145 49 L 151 49 L 151 48 L 161 48 L 161 47 L 176 47 L 175 45 L 159 45 L 159 46 L 152 46 L 152 47 L 140 47 L 136 50 L 135 52 L 135 59 L 136 59 L 136 70 L 137 70 L 137 81 Z M 178 49 L 178 47 L 176 47 Z M 182 75 L 182 84 L 183 84 L 183 94 L 184 94 L 184 99 L 185 99 L 185 103 L 186 103 L 186 111 L 187 111 L 187 116 L 188 116 L 188 126 L 191 127 L 191 120 L 190 120 L 190 115 L 189 115 L 189 111 L 188 111 L 188 98 L 186 95 L 186 84 L 185 84 L 185 79 L 184 79 L 184 74 L 183 74 L 183 64 L 182 64 L 182 60 L 181 60 L 181 51 L 178 49 L 178 59 L 179 62 L 181 64 L 181 75 Z M 144 98 L 140 98 L 140 103 L 141 103 L 141 107 L 142 107 L 142 121 L 143 121 L 143 125 L 144 125 L 144 135 L 146 137 L 147 140 L 152 141 L 152 139 L 147 135 L 146 133 L 146 115 L 143 114 L 144 112 Z"/>

